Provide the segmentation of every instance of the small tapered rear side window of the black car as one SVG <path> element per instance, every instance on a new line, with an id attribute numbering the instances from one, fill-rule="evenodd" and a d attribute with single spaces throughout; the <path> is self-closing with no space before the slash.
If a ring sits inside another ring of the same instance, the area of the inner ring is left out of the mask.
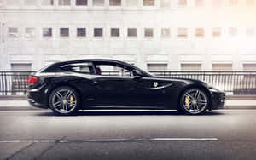
<path id="1" fill-rule="evenodd" d="M 94 74 L 94 69 L 91 63 L 74 63 L 61 66 L 61 70 L 79 72 L 84 74 Z"/>

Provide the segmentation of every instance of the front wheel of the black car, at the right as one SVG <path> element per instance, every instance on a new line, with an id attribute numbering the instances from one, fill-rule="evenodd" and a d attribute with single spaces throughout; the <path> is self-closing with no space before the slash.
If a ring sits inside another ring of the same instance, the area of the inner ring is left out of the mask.
<path id="1" fill-rule="evenodd" d="M 204 113 L 210 100 L 208 94 L 203 89 L 186 89 L 180 96 L 180 110 L 187 115 L 200 115 Z"/>

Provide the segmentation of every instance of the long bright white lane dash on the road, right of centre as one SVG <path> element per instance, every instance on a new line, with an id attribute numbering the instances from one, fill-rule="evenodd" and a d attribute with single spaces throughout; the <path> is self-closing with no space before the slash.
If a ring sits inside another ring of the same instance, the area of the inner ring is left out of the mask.
<path id="1" fill-rule="evenodd" d="M 149 139 L 149 141 L 217 141 L 218 138 L 154 138 Z"/>

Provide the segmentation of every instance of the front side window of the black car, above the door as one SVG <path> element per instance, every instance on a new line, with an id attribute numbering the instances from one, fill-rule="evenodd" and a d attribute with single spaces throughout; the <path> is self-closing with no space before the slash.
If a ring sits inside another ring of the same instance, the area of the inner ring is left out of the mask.
<path id="1" fill-rule="evenodd" d="M 125 66 L 96 65 L 96 74 L 113 77 L 133 77 L 132 71 Z"/>

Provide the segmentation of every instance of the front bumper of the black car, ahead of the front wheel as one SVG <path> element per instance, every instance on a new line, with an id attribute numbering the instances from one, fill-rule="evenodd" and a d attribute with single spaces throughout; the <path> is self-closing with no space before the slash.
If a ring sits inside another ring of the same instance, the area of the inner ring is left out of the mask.
<path id="1" fill-rule="evenodd" d="M 224 109 L 225 107 L 225 93 L 218 89 L 210 89 L 211 92 L 211 106 L 210 110 Z"/>

